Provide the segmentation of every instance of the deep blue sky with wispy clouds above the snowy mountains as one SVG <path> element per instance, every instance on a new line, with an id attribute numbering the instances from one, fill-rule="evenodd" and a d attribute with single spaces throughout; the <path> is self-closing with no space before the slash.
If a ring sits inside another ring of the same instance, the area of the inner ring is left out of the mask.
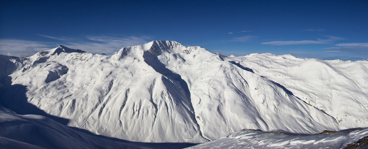
<path id="1" fill-rule="evenodd" d="M 174 40 L 223 55 L 368 59 L 367 0 L 1 0 L 0 54 Z"/>

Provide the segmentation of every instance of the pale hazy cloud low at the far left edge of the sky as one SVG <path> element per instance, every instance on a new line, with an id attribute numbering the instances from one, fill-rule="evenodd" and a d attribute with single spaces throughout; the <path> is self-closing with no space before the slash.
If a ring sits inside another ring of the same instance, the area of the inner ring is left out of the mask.
<path id="1" fill-rule="evenodd" d="M 57 44 L 18 39 L 0 39 L 0 54 L 10 56 L 30 56 L 38 51 L 55 48 Z"/>

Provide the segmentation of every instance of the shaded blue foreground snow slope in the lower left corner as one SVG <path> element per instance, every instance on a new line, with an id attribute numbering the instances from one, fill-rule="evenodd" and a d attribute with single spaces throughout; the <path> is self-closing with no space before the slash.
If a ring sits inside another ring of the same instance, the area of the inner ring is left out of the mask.
<path id="1" fill-rule="evenodd" d="M 140 149 L 139 143 L 86 135 L 47 117 L 19 115 L 0 106 L 1 149 Z"/>

